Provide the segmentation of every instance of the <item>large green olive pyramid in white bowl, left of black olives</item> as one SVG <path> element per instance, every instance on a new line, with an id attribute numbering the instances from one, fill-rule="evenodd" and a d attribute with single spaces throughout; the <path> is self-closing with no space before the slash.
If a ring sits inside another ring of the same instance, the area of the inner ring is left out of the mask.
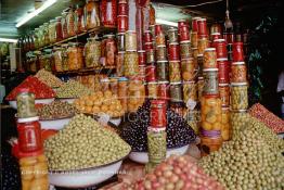
<path id="1" fill-rule="evenodd" d="M 51 170 L 69 170 L 101 166 L 125 157 L 130 152 L 118 135 L 104 129 L 82 114 L 55 136 L 46 140 L 44 151 Z"/>

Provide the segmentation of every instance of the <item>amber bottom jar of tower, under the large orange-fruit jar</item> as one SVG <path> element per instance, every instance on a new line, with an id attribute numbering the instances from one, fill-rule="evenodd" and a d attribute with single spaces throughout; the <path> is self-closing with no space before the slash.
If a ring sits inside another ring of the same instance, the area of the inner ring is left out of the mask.
<path id="1" fill-rule="evenodd" d="M 202 156 L 208 155 L 221 148 L 223 139 L 220 130 L 202 130 L 201 134 Z"/>

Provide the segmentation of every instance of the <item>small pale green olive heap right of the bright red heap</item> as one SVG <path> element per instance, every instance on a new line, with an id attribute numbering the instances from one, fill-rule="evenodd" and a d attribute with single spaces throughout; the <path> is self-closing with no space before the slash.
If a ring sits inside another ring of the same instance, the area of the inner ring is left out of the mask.
<path id="1" fill-rule="evenodd" d="M 68 80 L 56 90 L 57 98 L 79 98 L 91 93 L 93 93 L 91 89 L 75 80 Z"/>

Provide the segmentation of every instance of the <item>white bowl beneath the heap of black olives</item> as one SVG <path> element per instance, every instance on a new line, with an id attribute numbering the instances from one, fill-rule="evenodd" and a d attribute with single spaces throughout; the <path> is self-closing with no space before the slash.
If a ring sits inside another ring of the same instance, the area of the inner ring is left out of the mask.
<path id="1" fill-rule="evenodd" d="M 171 154 L 183 155 L 183 154 L 185 154 L 188 149 L 189 149 L 189 144 L 183 145 L 181 148 L 168 149 L 167 150 L 167 157 L 169 157 Z M 141 164 L 146 164 L 149 162 L 147 152 L 131 152 L 129 154 L 129 159 L 131 161 L 134 161 L 137 163 L 141 163 Z"/>

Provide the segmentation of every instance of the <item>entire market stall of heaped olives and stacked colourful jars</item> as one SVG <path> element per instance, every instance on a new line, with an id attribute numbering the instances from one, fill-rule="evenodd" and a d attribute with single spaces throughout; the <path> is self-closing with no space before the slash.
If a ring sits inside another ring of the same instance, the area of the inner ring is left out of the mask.
<path id="1" fill-rule="evenodd" d="M 224 27 L 160 22 L 150 1 L 68 5 L 17 43 L 31 74 L 5 97 L 17 189 L 284 188 L 284 121 L 250 103 L 228 2 Z"/>

